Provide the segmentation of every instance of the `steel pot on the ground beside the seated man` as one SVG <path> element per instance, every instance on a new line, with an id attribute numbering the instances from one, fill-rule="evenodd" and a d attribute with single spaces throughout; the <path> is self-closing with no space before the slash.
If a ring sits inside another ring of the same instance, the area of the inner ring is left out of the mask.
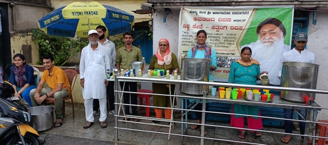
<path id="1" fill-rule="evenodd" d="M 36 131 L 43 131 L 53 126 L 53 107 L 51 106 L 35 106 L 30 107 L 32 127 Z"/>

